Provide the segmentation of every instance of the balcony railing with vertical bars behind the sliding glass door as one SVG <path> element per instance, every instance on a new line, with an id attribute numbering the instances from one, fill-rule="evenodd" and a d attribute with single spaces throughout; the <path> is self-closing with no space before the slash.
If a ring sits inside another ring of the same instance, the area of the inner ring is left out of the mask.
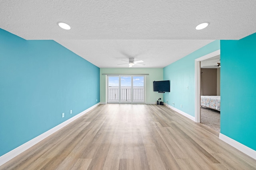
<path id="1" fill-rule="evenodd" d="M 121 102 L 131 102 L 131 91 L 130 88 L 121 88 Z M 109 88 L 108 89 L 108 101 L 109 102 L 118 102 L 119 101 L 119 89 L 118 88 Z M 143 88 L 134 88 L 133 89 L 133 101 L 134 102 L 144 102 L 144 89 Z"/>

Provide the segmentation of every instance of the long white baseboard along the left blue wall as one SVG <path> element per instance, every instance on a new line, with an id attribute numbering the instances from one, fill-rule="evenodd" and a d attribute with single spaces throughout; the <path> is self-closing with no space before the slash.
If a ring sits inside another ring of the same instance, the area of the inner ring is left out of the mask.
<path id="1" fill-rule="evenodd" d="M 60 123 L 59 125 L 57 125 L 57 126 L 53 127 L 52 129 L 42 133 L 41 135 L 35 137 L 34 139 L 31 139 L 30 141 L 24 143 L 23 145 L 20 145 L 19 147 L 11 150 L 10 152 L 0 156 L 0 166 L 2 164 L 5 164 L 6 162 L 11 160 L 15 156 L 18 156 L 19 154 L 21 154 L 25 150 L 29 149 L 30 147 L 36 145 L 38 142 L 40 142 L 43 139 L 45 139 L 46 137 L 52 135 L 54 132 L 60 130 L 61 128 L 63 128 L 64 126 L 68 125 L 72 121 L 78 119 L 79 117 L 81 117 L 82 115 L 84 115 L 88 111 L 92 110 L 93 108 L 97 107 L 98 105 L 100 105 L 100 103 L 98 103 L 98 104 L 96 104 L 96 105 L 94 105 L 94 106 L 92 106 L 92 107 L 82 111 L 81 113 L 75 115 L 74 117 L 71 117 L 70 119 L 64 121 L 63 123 Z"/>

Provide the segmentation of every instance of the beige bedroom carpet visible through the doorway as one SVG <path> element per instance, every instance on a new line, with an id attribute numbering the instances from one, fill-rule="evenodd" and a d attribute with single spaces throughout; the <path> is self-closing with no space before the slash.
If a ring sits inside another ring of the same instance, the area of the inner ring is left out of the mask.
<path id="1" fill-rule="evenodd" d="M 201 107 L 200 123 L 220 132 L 220 111 Z"/>

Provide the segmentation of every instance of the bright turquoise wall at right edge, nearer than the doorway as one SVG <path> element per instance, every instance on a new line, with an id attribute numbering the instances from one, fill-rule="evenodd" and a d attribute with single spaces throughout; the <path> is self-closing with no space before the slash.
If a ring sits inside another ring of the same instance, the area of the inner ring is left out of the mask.
<path id="1" fill-rule="evenodd" d="M 256 150 L 256 33 L 220 48 L 220 133 Z"/>

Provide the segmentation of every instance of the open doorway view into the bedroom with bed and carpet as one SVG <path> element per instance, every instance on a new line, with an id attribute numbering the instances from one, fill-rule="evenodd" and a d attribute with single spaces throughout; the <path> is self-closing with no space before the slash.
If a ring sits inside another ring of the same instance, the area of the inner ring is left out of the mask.
<path id="1" fill-rule="evenodd" d="M 200 61 L 200 123 L 220 132 L 220 55 Z"/>

